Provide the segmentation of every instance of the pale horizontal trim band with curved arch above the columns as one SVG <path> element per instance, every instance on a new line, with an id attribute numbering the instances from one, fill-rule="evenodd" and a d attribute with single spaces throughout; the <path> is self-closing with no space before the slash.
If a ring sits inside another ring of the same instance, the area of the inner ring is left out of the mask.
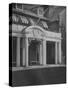
<path id="1" fill-rule="evenodd" d="M 31 32 L 31 30 L 33 28 L 37 28 L 40 31 L 42 31 L 44 36 L 34 37 L 32 34 L 28 34 L 29 31 Z M 23 26 L 21 26 L 20 29 L 21 29 L 20 30 L 21 32 L 12 32 L 12 34 L 10 34 L 10 35 L 18 36 L 18 37 L 47 38 L 47 39 L 53 39 L 53 40 L 61 40 L 62 39 L 61 38 L 61 33 L 47 31 L 46 29 L 43 29 L 43 28 L 41 28 L 40 26 L 37 26 L 37 25 L 32 25 L 32 26 L 29 26 L 25 29 L 23 29 Z M 15 28 L 15 30 L 16 30 L 16 28 Z M 24 31 L 25 31 L 25 33 L 24 33 Z"/>

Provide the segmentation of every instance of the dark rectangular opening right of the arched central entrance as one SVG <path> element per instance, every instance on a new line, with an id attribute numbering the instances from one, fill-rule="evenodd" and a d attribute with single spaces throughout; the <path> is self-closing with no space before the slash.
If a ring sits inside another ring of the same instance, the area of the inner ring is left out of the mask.
<path id="1" fill-rule="evenodd" d="M 46 57 L 47 57 L 47 64 L 55 64 L 55 42 L 47 41 Z"/>

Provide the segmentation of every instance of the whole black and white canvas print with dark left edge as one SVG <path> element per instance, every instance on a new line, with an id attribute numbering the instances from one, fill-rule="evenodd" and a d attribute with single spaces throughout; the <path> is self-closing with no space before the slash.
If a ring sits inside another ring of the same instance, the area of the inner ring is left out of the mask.
<path id="1" fill-rule="evenodd" d="M 66 83 L 66 6 L 9 4 L 9 86 Z"/>

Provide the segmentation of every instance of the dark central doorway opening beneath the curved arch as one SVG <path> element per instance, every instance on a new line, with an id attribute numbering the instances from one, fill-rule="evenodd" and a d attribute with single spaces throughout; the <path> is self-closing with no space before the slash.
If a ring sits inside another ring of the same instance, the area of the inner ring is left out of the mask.
<path id="1" fill-rule="evenodd" d="M 39 65 L 40 41 L 31 40 L 29 44 L 29 65 Z"/>

